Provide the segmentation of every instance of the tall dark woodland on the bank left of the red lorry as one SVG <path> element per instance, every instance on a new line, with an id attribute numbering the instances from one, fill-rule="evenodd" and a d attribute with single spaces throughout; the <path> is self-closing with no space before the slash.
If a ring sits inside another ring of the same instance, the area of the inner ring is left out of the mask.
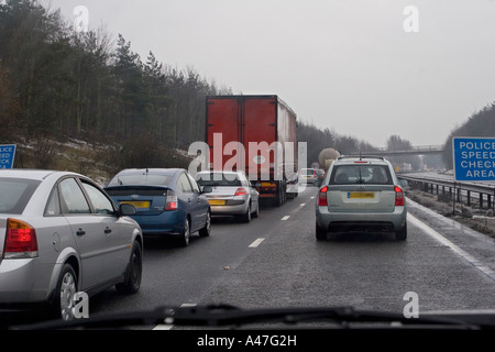
<path id="1" fill-rule="evenodd" d="M 0 3 L 0 139 L 40 135 L 145 140 L 186 148 L 202 140 L 207 95 L 231 94 L 193 67 L 134 53 L 122 35 L 76 31 L 36 0 Z"/>

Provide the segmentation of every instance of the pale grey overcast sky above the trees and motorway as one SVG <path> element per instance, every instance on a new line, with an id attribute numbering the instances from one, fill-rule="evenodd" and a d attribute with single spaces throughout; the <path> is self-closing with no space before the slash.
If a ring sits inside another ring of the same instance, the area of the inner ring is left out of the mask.
<path id="1" fill-rule="evenodd" d="M 298 118 L 385 146 L 449 133 L 495 101 L 495 0 L 43 0 Z M 494 133 L 495 134 L 495 133 Z"/>

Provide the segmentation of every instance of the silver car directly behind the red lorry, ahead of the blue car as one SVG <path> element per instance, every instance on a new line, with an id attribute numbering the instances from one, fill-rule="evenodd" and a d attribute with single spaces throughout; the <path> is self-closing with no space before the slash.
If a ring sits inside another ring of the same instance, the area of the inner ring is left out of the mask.
<path id="1" fill-rule="evenodd" d="M 201 187 L 211 187 L 206 196 L 211 215 L 237 216 L 244 222 L 260 213 L 260 194 L 243 172 L 200 172 L 196 182 Z"/>

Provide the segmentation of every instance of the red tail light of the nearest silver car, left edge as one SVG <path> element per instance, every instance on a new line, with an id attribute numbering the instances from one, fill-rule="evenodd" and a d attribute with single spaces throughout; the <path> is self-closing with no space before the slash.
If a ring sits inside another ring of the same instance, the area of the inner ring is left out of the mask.
<path id="1" fill-rule="evenodd" d="M 36 256 L 37 240 L 34 228 L 24 221 L 8 219 L 3 257 L 25 258 Z"/>

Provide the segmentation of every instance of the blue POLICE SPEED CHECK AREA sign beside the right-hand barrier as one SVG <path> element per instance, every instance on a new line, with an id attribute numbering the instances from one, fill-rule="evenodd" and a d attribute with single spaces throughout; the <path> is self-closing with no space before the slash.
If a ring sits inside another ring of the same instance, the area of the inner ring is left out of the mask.
<path id="1" fill-rule="evenodd" d="M 495 139 L 452 139 L 455 180 L 495 180 Z"/>

